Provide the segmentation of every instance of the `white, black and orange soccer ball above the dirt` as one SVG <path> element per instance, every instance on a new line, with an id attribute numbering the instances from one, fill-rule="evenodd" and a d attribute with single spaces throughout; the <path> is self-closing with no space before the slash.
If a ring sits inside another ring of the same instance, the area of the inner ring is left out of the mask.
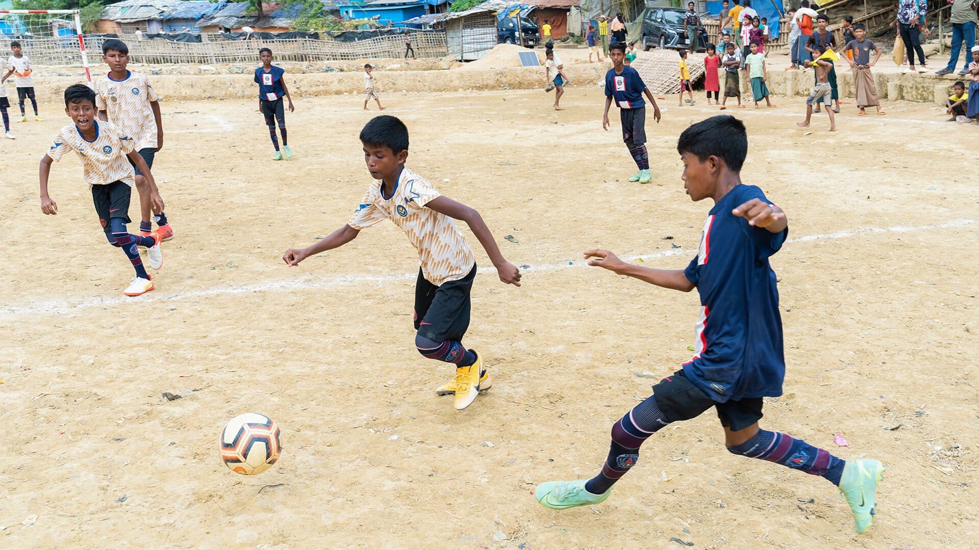
<path id="1" fill-rule="evenodd" d="M 221 431 L 221 462 L 245 476 L 261 474 L 282 453 L 280 433 L 275 421 L 263 414 L 236 416 Z"/>

